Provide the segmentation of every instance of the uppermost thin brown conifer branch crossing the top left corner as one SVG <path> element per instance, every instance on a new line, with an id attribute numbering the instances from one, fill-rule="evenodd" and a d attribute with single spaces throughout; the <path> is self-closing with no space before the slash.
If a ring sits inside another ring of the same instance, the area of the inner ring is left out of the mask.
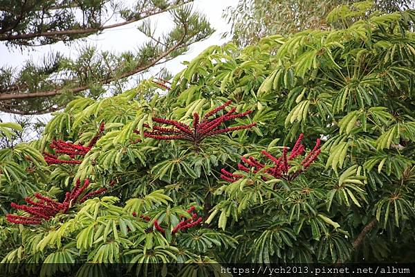
<path id="1" fill-rule="evenodd" d="M 194 1 L 194 0 L 185 0 L 185 1 L 183 1 L 183 4 L 190 3 L 191 1 Z M 179 5 L 183 5 L 183 4 L 181 3 Z M 131 24 L 133 22 L 145 19 L 147 17 L 151 17 L 153 15 L 158 15 L 160 13 L 167 12 L 168 10 L 172 10 L 176 7 L 177 7 L 177 5 L 169 6 L 168 8 L 165 8 L 163 10 L 158 10 L 157 12 L 153 12 L 153 13 L 147 14 L 147 15 L 142 16 L 142 17 L 136 17 L 136 18 L 129 19 L 129 20 L 126 20 L 126 21 L 122 21 L 122 22 L 119 22 L 119 23 L 116 23 L 116 24 L 100 26 L 98 28 L 54 30 L 54 31 L 49 31 L 49 32 L 27 33 L 27 34 L 20 34 L 20 35 L 0 35 L 0 41 L 6 41 L 6 40 L 7 41 L 12 41 L 12 40 L 18 40 L 18 39 L 31 39 L 31 38 L 34 38 L 34 37 L 59 37 L 61 35 L 93 34 L 93 33 L 97 33 L 97 32 L 102 31 L 102 30 L 107 30 L 107 29 L 116 28 L 116 27 L 127 25 L 127 24 Z"/>

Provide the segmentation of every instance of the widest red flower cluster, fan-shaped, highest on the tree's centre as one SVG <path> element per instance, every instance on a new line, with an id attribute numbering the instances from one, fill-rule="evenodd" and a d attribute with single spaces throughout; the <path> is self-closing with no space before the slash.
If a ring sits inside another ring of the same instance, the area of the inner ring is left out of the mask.
<path id="1" fill-rule="evenodd" d="M 228 100 L 228 102 L 225 102 L 225 104 L 216 107 L 216 109 L 212 109 L 212 111 L 209 111 L 207 114 L 205 114 L 205 116 L 203 116 L 201 120 L 199 114 L 194 113 L 192 127 L 190 125 L 185 125 L 184 123 L 178 122 L 176 120 L 168 120 L 164 118 L 154 117 L 154 122 L 165 125 L 171 125 L 173 127 L 153 126 L 153 130 L 145 131 L 144 136 L 147 138 L 159 140 L 183 139 L 186 141 L 192 141 L 194 145 L 197 145 L 208 136 L 233 132 L 239 129 L 248 129 L 250 127 L 257 125 L 256 123 L 252 123 L 249 125 L 240 125 L 236 127 L 227 127 L 225 129 L 219 129 L 220 125 L 225 121 L 232 120 L 234 118 L 241 118 L 243 116 L 247 116 L 252 112 L 248 110 L 241 114 L 234 114 L 236 108 L 233 107 L 232 109 L 230 109 L 230 111 L 223 114 L 223 116 L 219 116 L 214 119 L 209 119 L 210 116 L 213 116 L 222 109 L 225 109 L 225 107 L 230 105 L 231 102 L 232 100 Z M 145 125 L 145 127 L 149 127 L 149 125 Z M 138 130 L 135 130 L 134 132 L 136 134 L 139 134 Z"/>

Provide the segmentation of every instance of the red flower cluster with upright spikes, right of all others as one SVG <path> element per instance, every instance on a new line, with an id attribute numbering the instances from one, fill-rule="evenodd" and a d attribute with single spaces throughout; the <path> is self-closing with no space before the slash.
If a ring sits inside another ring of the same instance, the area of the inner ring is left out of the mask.
<path id="1" fill-rule="evenodd" d="M 263 170 L 265 168 L 263 172 L 266 173 L 267 175 L 271 175 L 277 179 L 286 179 L 288 181 L 291 181 L 295 179 L 295 177 L 297 177 L 299 173 L 301 173 L 303 170 L 308 168 L 311 165 L 311 163 L 313 163 L 313 161 L 317 159 L 318 155 L 321 152 L 320 139 L 317 139 L 313 150 L 311 150 L 301 162 L 301 165 L 303 166 L 302 170 L 298 170 L 297 172 L 293 173 L 293 175 L 288 175 L 288 170 L 290 169 L 290 166 L 288 165 L 288 161 L 291 161 L 295 157 L 302 155 L 304 153 L 304 145 L 302 145 L 301 143 L 303 137 L 304 137 L 303 134 L 299 135 L 297 142 L 295 143 L 293 150 L 291 150 L 291 153 L 289 156 L 288 156 L 287 147 L 284 147 L 282 151 L 282 156 L 279 157 L 278 159 L 273 157 L 273 155 L 271 155 L 270 153 L 263 150 L 262 154 L 264 154 L 268 159 L 273 161 L 274 166 L 272 168 L 266 168 L 266 165 L 259 163 L 259 161 L 255 160 L 253 157 L 249 157 L 248 159 L 246 159 L 245 157 L 241 157 L 241 161 L 243 161 L 243 163 L 253 168 L 254 173 L 257 173 L 260 170 Z M 242 163 L 238 163 L 238 169 L 245 171 L 245 172 L 250 172 L 250 168 L 243 165 Z M 230 181 L 232 183 L 234 181 L 237 181 L 237 179 L 243 178 L 242 175 L 237 175 L 237 174 L 228 172 L 224 168 L 222 168 L 221 172 L 223 173 L 221 175 L 221 178 L 225 179 L 226 181 Z M 262 179 L 266 180 L 267 178 L 266 176 L 262 176 Z"/>

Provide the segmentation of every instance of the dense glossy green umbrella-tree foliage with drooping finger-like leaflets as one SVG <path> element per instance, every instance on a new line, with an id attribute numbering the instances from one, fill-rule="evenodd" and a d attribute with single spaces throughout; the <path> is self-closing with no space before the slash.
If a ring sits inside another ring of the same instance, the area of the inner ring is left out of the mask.
<path id="1" fill-rule="evenodd" d="M 1 211 L 24 216 L 10 203 L 35 193 L 61 202 L 78 179 L 105 195 L 41 224 L 0 217 L 1 260 L 189 262 L 181 276 L 206 274 L 192 262 L 413 262 L 414 16 L 211 46 L 171 84 L 73 100 L 39 141 L 1 150 Z M 156 137 L 214 114 L 232 132 L 197 147 Z M 102 123 L 84 155 L 49 146 L 87 147 Z"/>

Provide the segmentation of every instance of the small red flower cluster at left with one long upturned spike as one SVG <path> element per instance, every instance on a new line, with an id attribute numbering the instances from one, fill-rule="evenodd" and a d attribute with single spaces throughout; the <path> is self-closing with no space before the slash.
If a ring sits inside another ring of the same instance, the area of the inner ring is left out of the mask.
<path id="1" fill-rule="evenodd" d="M 86 147 L 82 145 L 73 144 L 68 141 L 64 142 L 64 141 L 59 140 L 59 141 L 52 141 L 52 143 L 50 143 L 50 148 L 54 149 L 56 154 L 66 154 L 72 159 L 74 159 L 78 155 L 85 156 L 86 153 L 88 153 L 89 150 L 93 148 L 93 145 L 95 145 L 98 139 L 100 139 L 102 132 L 104 132 L 104 123 L 101 123 L 98 134 L 96 134 L 92 138 L 91 142 Z M 82 161 L 79 161 L 79 160 L 69 160 L 69 161 L 61 160 L 61 159 L 58 159 L 57 156 L 47 153 L 47 152 L 44 152 L 44 159 L 46 163 L 48 164 L 59 164 L 59 163 L 80 164 L 82 163 Z"/>

